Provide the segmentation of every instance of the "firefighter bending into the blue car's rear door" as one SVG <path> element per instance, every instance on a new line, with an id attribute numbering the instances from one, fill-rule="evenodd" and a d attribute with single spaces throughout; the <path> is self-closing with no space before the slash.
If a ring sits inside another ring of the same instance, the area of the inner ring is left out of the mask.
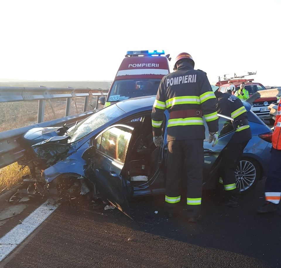
<path id="1" fill-rule="evenodd" d="M 251 129 L 248 124 L 247 111 L 241 100 L 233 96 L 231 92 L 221 93 L 216 91 L 217 112 L 232 117 L 237 127 L 231 140 L 222 151 L 222 163 L 220 170 L 220 183 L 223 184 L 226 198 L 226 207 L 238 207 L 239 190 L 236 188 L 235 169 L 248 141 L 252 138 Z M 229 125 L 224 126 L 226 133 Z M 222 131 L 224 130 L 222 128 Z M 221 131 L 221 132 L 222 132 Z M 223 133 L 221 133 L 223 134 Z"/>

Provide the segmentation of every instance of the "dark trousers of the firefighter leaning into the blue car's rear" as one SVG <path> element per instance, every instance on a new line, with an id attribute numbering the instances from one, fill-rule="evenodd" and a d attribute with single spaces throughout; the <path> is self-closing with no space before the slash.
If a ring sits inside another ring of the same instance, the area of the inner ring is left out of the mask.
<path id="1" fill-rule="evenodd" d="M 229 195 L 235 195 L 239 192 L 239 190 L 236 188 L 236 177 L 234 172 L 247 143 L 248 141 L 241 143 L 230 143 L 221 153 L 222 164 L 220 176 L 223 181 L 224 189 Z"/>

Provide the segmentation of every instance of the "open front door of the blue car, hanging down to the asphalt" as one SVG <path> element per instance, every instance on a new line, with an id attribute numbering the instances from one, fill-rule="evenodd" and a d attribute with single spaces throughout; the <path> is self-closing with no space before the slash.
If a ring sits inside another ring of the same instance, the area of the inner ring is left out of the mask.
<path id="1" fill-rule="evenodd" d="M 88 175 L 103 198 L 130 218 L 129 185 L 123 168 L 133 130 L 131 126 L 116 124 L 100 133 L 93 142 L 94 161 L 90 171 L 92 174 Z"/>

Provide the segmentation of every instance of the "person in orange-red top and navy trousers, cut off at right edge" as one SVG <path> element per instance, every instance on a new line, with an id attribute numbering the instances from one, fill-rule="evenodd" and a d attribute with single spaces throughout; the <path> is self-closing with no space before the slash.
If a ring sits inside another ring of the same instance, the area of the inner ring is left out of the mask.
<path id="1" fill-rule="evenodd" d="M 273 212 L 278 209 L 281 197 L 281 103 L 278 105 L 277 115 L 272 134 L 271 156 L 268 165 L 268 176 L 265 181 L 265 204 L 258 209 L 258 213 Z"/>

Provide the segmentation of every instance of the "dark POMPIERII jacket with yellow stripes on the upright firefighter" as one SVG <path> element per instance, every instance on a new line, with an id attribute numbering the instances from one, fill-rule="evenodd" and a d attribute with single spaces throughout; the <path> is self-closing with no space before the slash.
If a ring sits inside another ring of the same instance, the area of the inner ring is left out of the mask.
<path id="1" fill-rule="evenodd" d="M 162 78 L 153 105 L 153 135 L 162 135 L 164 111 L 168 110 L 167 140 L 204 139 L 206 119 L 209 132 L 217 132 L 216 97 L 201 70 L 181 63 L 177 71 Z"/>

